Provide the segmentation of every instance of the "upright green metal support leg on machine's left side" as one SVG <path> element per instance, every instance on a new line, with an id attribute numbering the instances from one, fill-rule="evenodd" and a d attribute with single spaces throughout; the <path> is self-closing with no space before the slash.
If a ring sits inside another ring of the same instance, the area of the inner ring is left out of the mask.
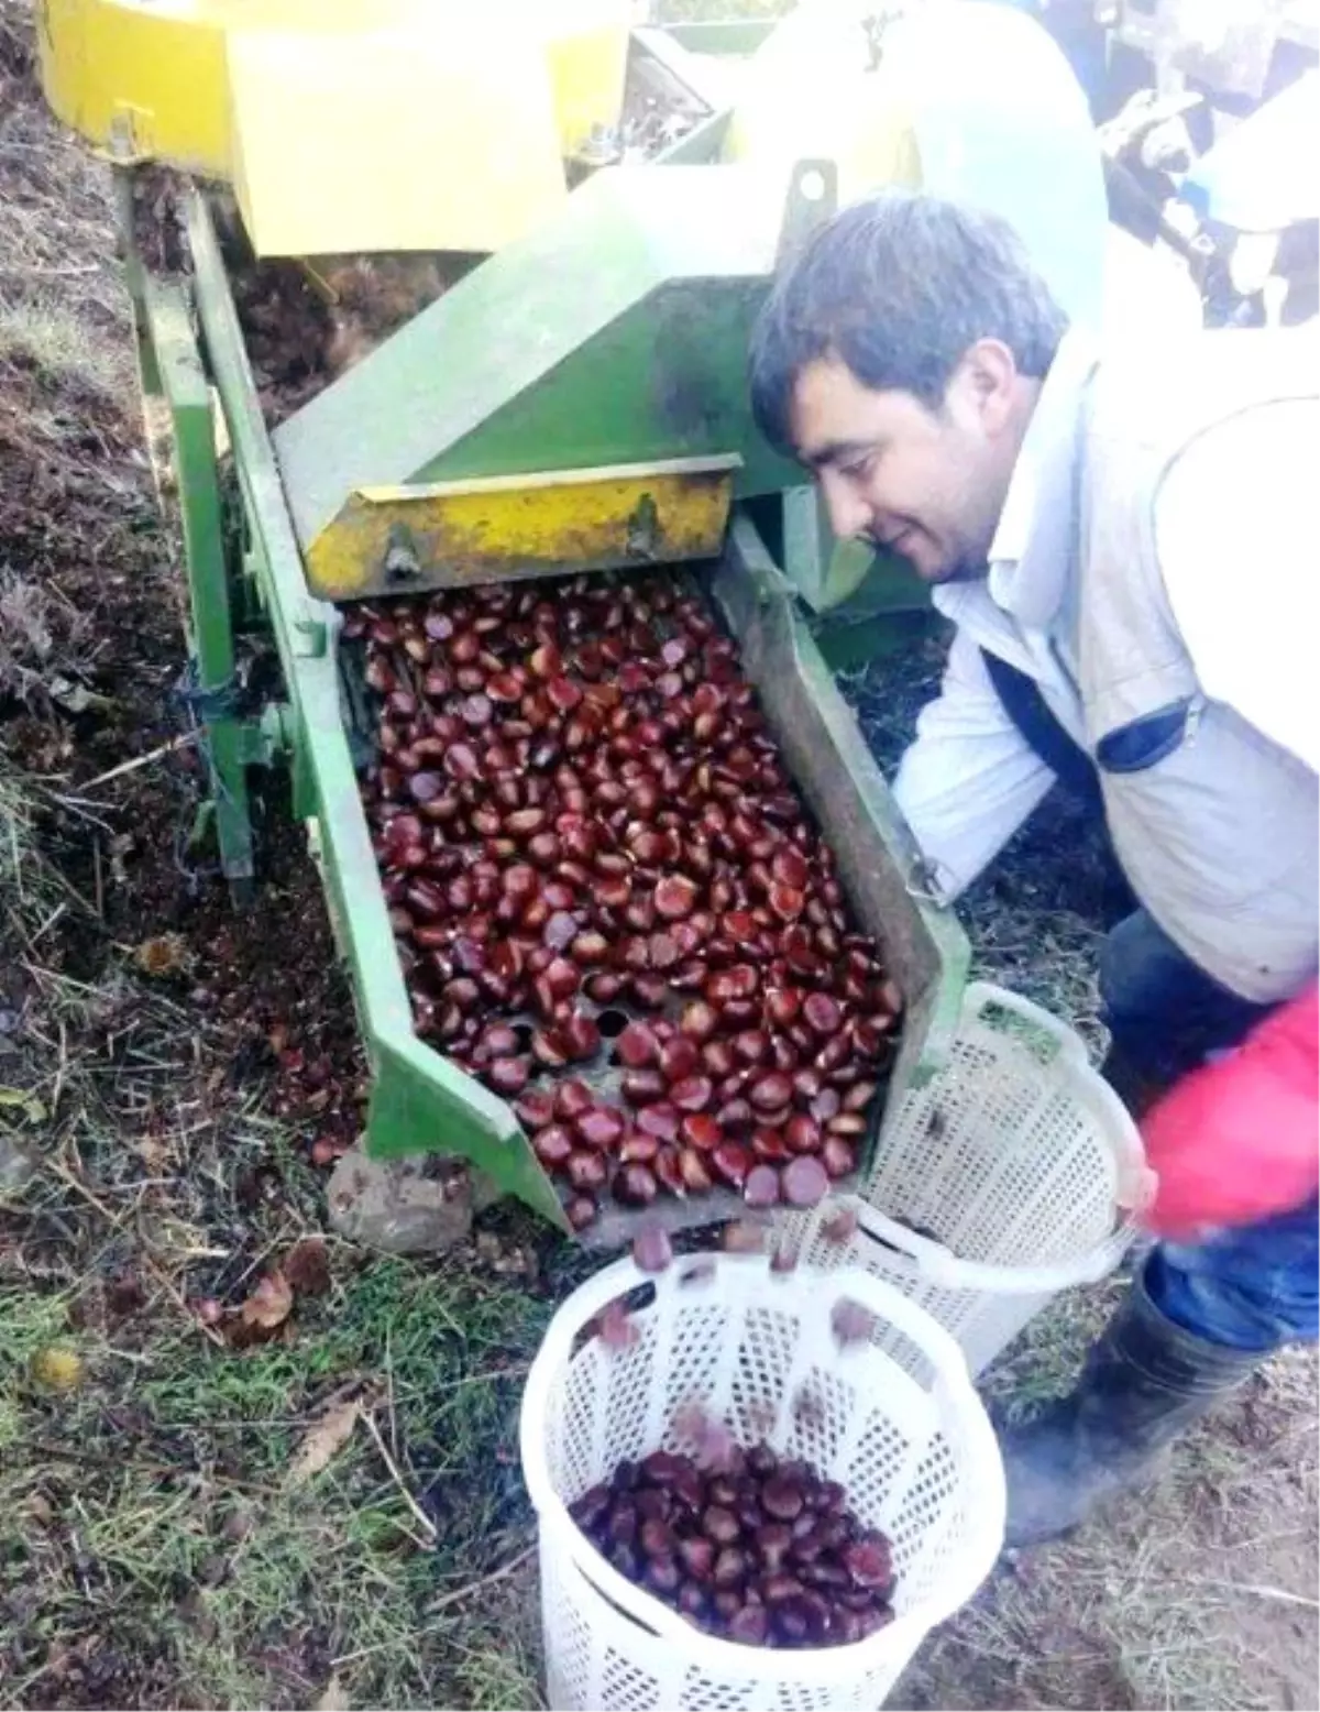
<path id="1" fill-rule="evenodd" d="M 192 644 L 197 654 L 197 704 L 207 738 L 207 767 L 216 806 L 221 866 L 236 897 L 253 878 L 248 815 L 248 734 L 233 707 L 235 632 L 229 568 L 221 526 L 211 389 L 197 354 L 183 294 L 147 281 L 156 363 L 169 402 L 178 459 L 178 493 L 188 558 Z"/>

